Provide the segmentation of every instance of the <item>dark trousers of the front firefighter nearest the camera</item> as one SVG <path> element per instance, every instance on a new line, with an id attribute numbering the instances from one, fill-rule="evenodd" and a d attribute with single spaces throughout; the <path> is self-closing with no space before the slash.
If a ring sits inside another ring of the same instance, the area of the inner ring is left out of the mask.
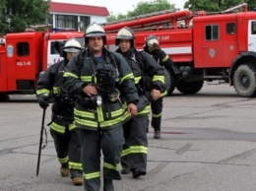
<path id="1" fill-rule="evenodd" d="M 122 145 L 124 144 L 121 125 L 97 131 L 80 129 L 82 141 L 82 164 L 85 178 L 85 190 L 100 189 L 100 150 L 103 154 L 103 190 L 113 191 L 112 180 L 120 180 L 118 170 Z"/>

